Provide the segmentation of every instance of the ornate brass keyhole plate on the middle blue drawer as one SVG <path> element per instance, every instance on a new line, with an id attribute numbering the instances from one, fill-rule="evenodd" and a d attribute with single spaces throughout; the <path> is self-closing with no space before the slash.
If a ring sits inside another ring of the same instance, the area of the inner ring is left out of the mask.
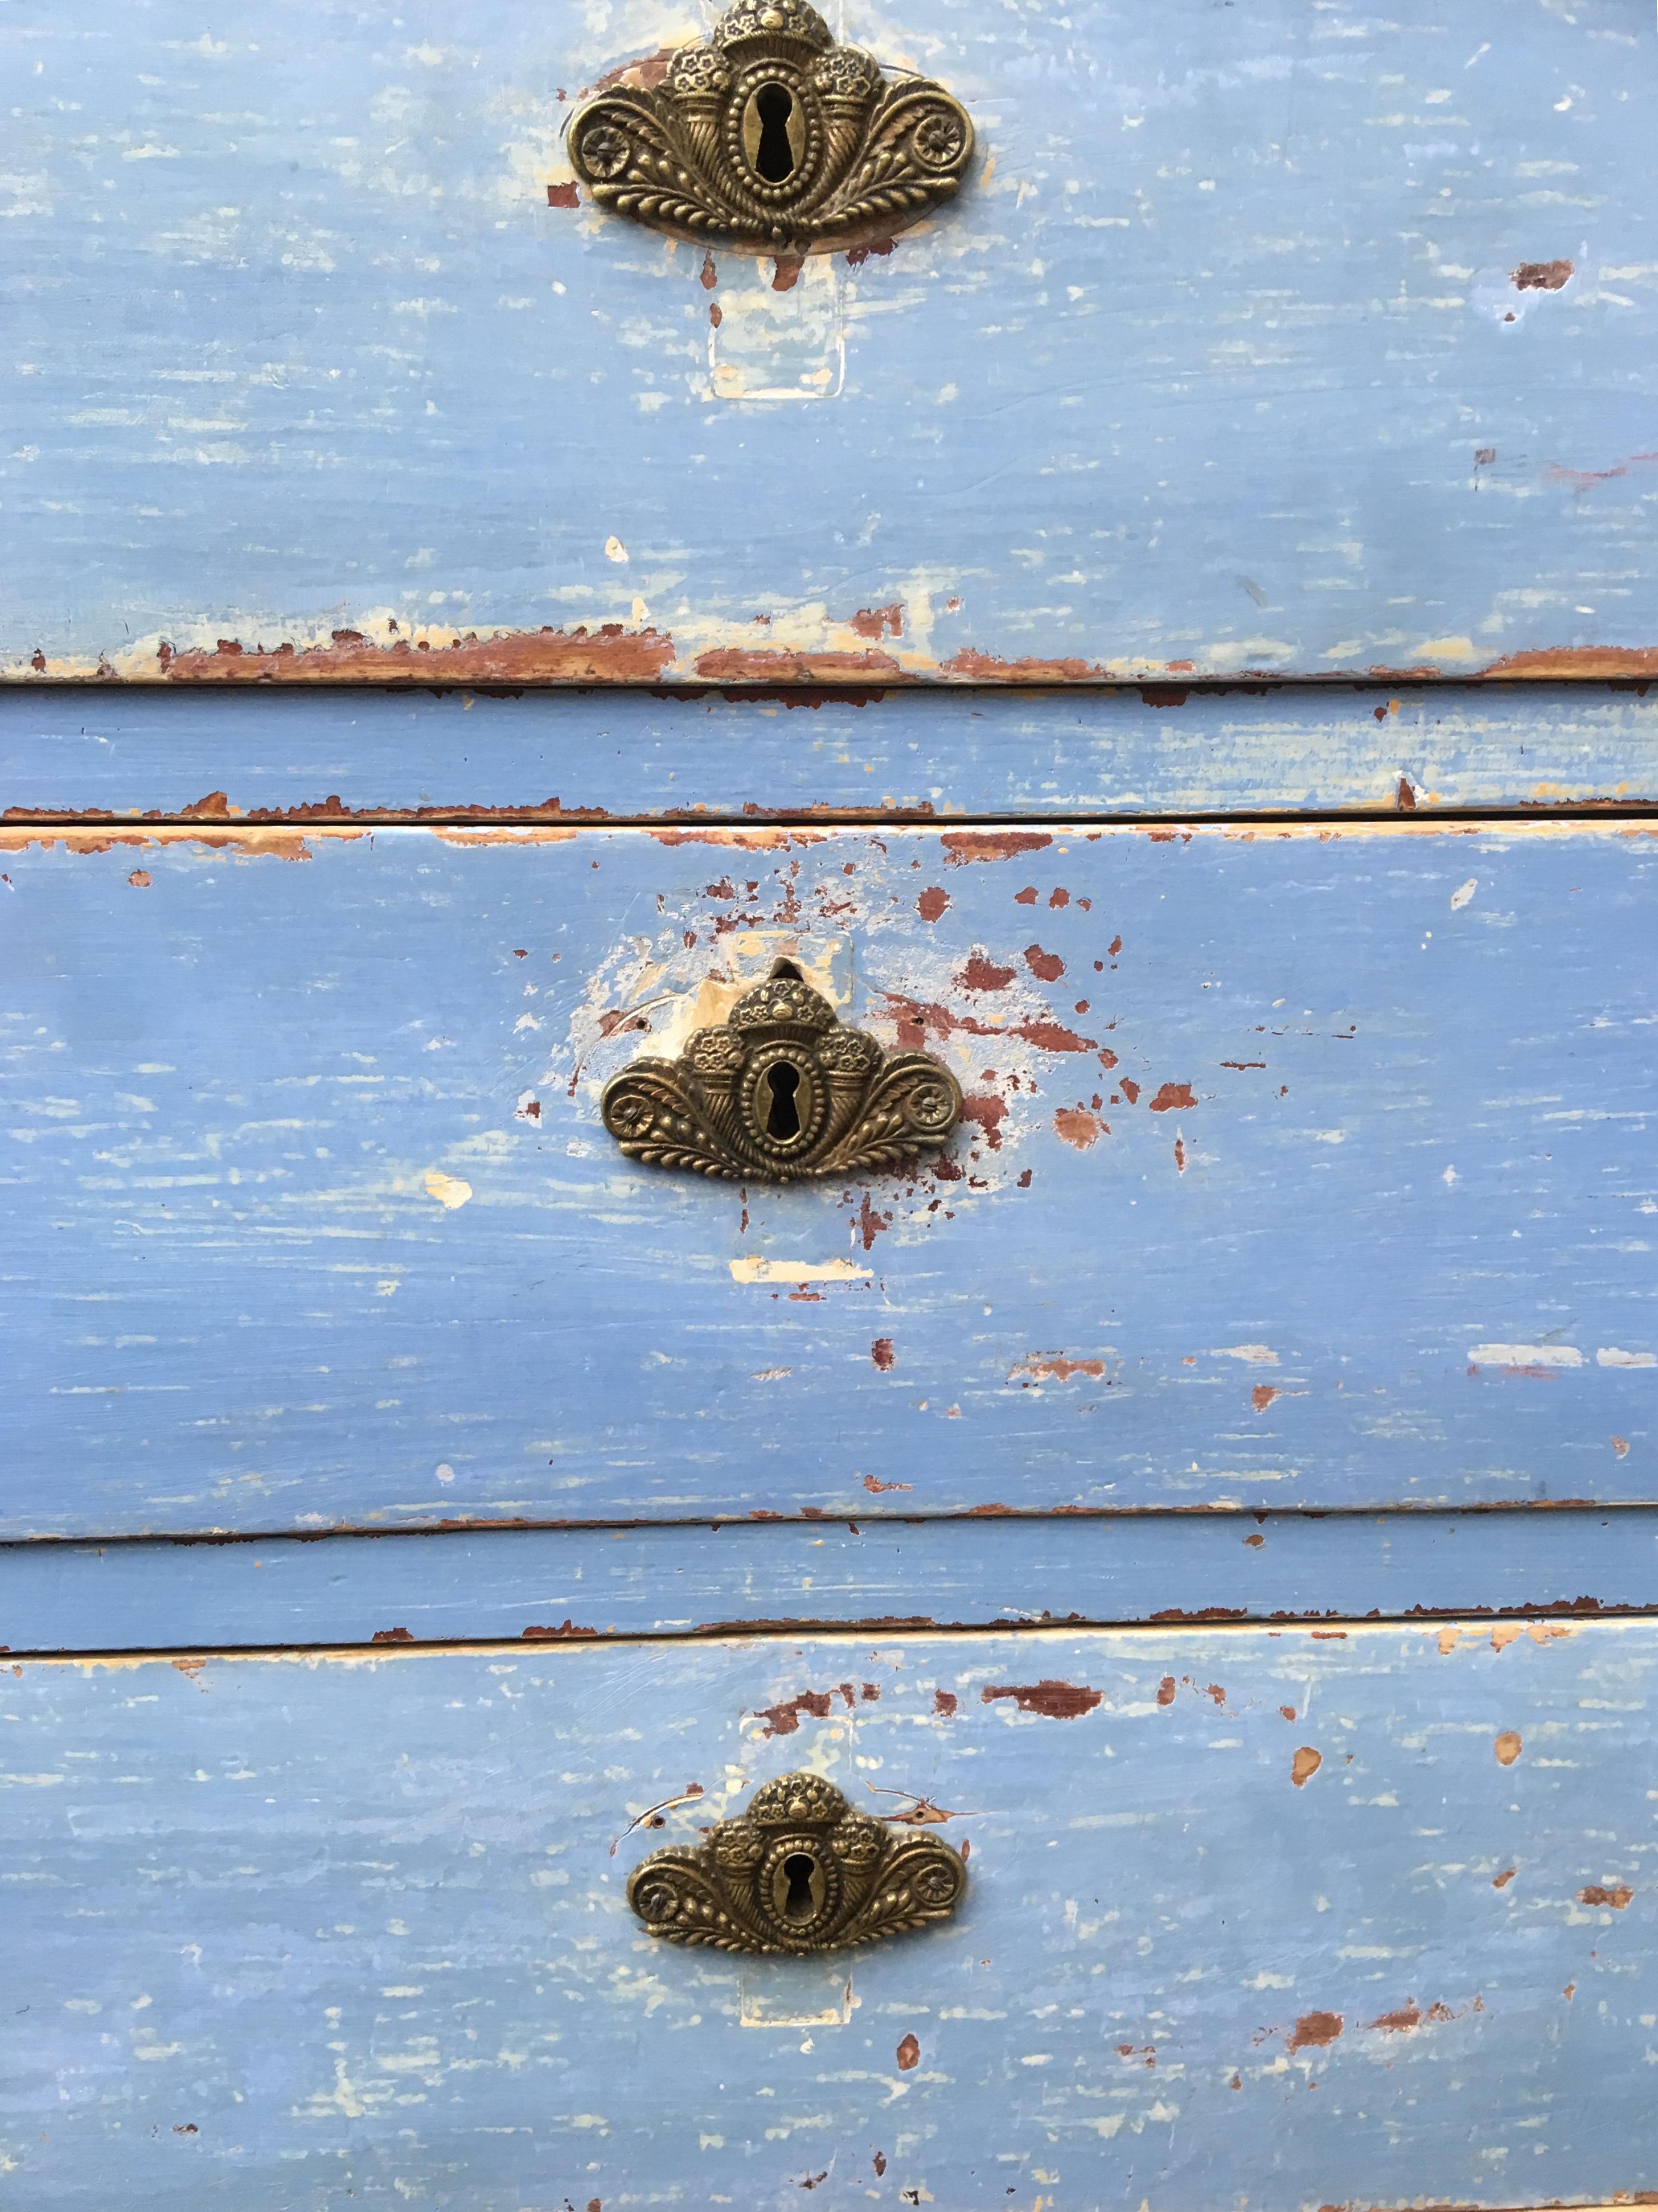
<path id="1" fill-rule="evenodd" d="M 791 960 L 718 1029 L 694 1031 L 679 1060 L 634 1060 L 604 1091 L 604 1126 L 628 1159 L 730 1183 L 891 1168 L 937 1152 L 959 1115 L 940 1060 L 889 1060 Z"/>

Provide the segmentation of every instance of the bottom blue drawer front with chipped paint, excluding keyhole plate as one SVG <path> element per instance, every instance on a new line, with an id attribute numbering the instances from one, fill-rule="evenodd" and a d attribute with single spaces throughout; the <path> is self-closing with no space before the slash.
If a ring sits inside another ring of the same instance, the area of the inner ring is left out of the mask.
<path id="1" fill-rule="evenodd" d="M 1514 1621 L 0 1670 L 9 2188 L 1627 2201 L 1654 1659 Z M 948 1816 L 959 1916 L 833 1973 L 643 1936 L 641 1851 L 791 1765 Z"/>

